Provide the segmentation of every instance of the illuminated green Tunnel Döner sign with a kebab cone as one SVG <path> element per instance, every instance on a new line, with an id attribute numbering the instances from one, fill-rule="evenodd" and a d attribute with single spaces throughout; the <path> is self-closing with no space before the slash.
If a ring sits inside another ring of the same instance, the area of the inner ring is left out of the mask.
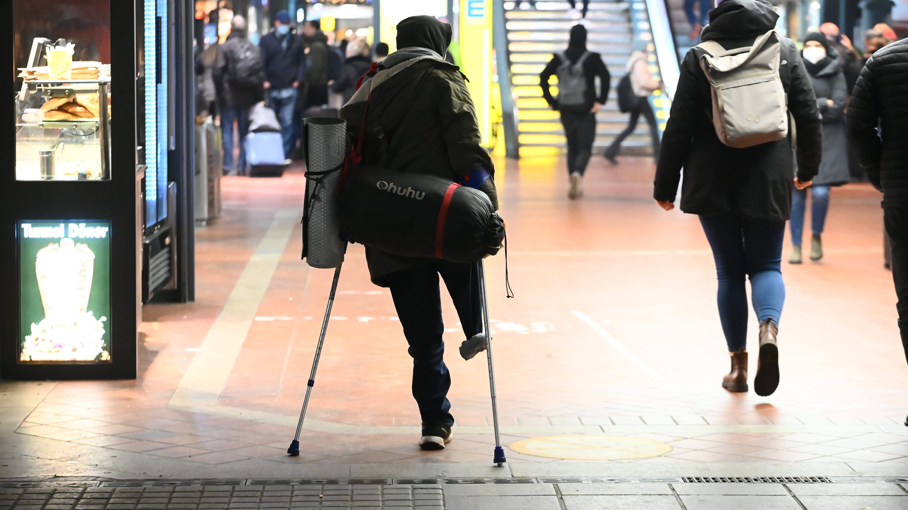
<path id="1" fill-rule="evenodd" d="M 109 221 L 19 221 L 19 363 L 105 363 Z"/>

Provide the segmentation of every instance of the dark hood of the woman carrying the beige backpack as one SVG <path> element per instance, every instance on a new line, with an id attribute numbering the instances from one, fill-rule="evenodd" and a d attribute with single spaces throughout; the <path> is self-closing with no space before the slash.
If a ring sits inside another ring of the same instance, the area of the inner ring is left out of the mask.
<path id="1" fill-rule="evenodd" d="M 775 28 L 779 19 L 766 0 L 725 0 L 709 12 L 709 25 L 701 38 L 713 41 L 759 35 Z"/>

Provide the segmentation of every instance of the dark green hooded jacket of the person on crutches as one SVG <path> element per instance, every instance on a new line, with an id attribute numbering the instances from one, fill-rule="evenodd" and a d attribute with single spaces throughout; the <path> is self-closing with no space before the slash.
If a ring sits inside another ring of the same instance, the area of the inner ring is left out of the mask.
<path id="1" fill-rule="evenodd" d="M 363 164 L 396 172 L 437 175 L 459 181 L 461 175 L 486 169 L 492 175 L 480 188 L 498 210 L 495 168 L 480 144 L 476 109 L 459 67 L 444 61 L 451 25 L 432 16 L 412 16 L 397 25 L 400 48 L 380 64 L 341 110 L 350 143 L 357 143 L 363 114 L 366 131 Z M 376 285 L 384 277 L 428 263 L 366 248 Z"/>

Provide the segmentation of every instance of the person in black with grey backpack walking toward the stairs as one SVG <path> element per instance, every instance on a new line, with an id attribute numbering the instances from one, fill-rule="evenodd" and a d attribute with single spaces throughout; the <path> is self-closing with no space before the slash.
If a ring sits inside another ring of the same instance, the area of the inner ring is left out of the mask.
<path id="1" fill-rule="evenodd" d="M 548 91 L 548 78 L 558 75 L 558 98 Z M 599 93 L 596 93 L 596 78 Z M 555 54 L 539 74 L 542 97 L 552 110 L 561 113 L 561 125 L 568 139 L 568 197 L 583 196 L 583 173 L 596 142 L 596 114 L 608 98 L 611 77 L 599 54 L 587 52 L 587 28 L 574 25 L 570 29 L 568 49 Z"/>

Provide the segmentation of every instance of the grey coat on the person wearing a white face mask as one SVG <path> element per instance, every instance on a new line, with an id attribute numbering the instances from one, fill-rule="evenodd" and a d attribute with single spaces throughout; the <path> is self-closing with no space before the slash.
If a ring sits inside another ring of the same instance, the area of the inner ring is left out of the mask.
<path id="1" fill-rule="evenodd" d="M 814 185 L 838 186 L 852 180 L 848 168 L 848 140 L 844 124 L 848 84 L 840 59 L 827 58 L 820 63 L 822 69 L 816 74 L 810 74 L 816 106 L 823 115 L 823 161 L 820 162 L 820 172 L 814 177 Z M 808 73 L 810 67 L 807 65 Z M 832 106 L 828 102 L 830 99 L 833 100 Z"/>

